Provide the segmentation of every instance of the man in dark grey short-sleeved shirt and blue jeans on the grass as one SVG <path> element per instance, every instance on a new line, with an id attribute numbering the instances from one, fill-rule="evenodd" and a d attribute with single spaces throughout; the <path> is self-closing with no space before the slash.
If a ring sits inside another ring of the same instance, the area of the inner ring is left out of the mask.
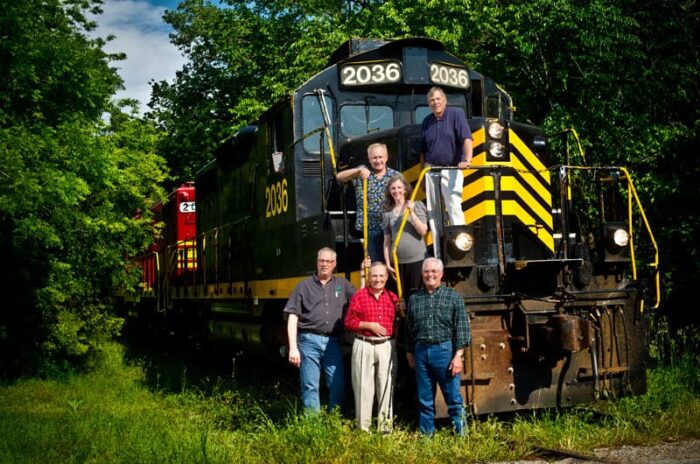
<path id="1" fill-rule="evenodd" d="M 329 390 L 328 409 L 342 410 L 345 397 L 345 369 L 340 351 L 343 315 L 355 287 L 336 277 L 336 253 L 324 247 L 318 251 L 316 274 L 294 288 L 284 312 L 289 315 L 289 363 L 300 368 L 301 398 L 305 412 L 319 411 L 321 370 Z"/>

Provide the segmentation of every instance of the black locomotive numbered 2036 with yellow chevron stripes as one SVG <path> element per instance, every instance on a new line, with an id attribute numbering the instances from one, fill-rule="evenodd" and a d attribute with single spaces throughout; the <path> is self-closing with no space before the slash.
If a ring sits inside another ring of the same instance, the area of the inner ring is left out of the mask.
<path id="1" fill-rule="evenodd" d="M 445 227 L 433 247 L 471 319 L 462 374 L 471 411 L 643 392 L 658 254 L 642 228 L 652 266 L 644 268 L 650 279 L 637 275 L 635 226 L 644 214 L 629 174 L 554 157 L 540 128 L 513 120 L 507 93 L 425 38 L 346 42 L 223 144 L 196 175 L 196 240 L 156 251 L 157 284 L 151 278 L 135 295 L 136 310 L 286 357 L 282 308 L 314 272 L 319 248 L 334 248 L 337 272 L 359 285 L 355 195 L 335 172 L 363 164 L 366 148 L 382 142 L 389 166 L 425 198 L 418 146 L 434 85 L 465 111 L 474 142 L 473 168 L 464 171 L 467 225 Z M 165 236 L 179 237 L 170 230 L 178 224 L 166 218 Z"/>

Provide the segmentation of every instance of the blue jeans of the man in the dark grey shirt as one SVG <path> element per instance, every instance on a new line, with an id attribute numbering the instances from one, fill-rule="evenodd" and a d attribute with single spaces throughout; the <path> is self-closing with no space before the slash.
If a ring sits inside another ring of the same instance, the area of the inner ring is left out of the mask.
<path id="1" fill-rule="evenodd" d="M 309 332 L 301 332 L 297 337 L 301 355 L 299 377 L 301 379 L 301 401 L 304 411 L 319 411 L 321 400 L 319 387 L 321 369 L 329 391 L 328 409 L 343 409 L 345 399 L 345 368 L 338 337 L 324 337 Z"/>

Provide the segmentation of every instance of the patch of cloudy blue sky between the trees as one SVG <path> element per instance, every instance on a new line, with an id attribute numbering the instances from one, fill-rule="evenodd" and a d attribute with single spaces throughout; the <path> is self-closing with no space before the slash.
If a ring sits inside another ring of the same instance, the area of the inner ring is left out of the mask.
<path id="1" fill-rule="evenodd" d="M 185 63 L 179 50 L 170 43 L 171 27 L 163 22 L 165 8 L 143 0 L 108 0 L 104 13 L 95 19 L 95 34 L 116 36 L 104 47 L 108 53 L 126 53 L 127 59 L 113 62 L 124 80 L 125 90 L 116 98 L 135 98 L 141 102 L 141 111 L 147 109 L 151 98 L 148 82 L 172 81 L 175 71 Z"/>

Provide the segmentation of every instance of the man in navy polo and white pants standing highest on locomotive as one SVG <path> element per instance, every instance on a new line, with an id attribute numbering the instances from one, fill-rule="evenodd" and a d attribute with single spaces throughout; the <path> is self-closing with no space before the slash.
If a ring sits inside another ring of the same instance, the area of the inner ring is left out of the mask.
<path id="1" fill-rule="evenodd" d="M 436 193 L 436 182 L 440 182 L 440 191 L 447 208 L 450 224 L 464 225 L 462 211 L 462 189 L 464 175 L 462 169 L 471 166 L 473 156 L 472 133 L 469 123 L 461 108 L 447 106 L 447 96 L 440 87 L 428 90 L 428 106 L 432 114 L 423 119 L 421 125 L 420 159 L 422 167 L 456 166 L 459 169 L 444 169 L 430 172 L 426 176 L 426 200 L 428 211 L 439 208 L 439 197 Z M 438 237 L 442 232 L 442 224 L 435 221 L 436 214 L 431 215 L 430 230 L 433 233 L 433 243 L 439 250 Z M 438 216 L 439 217 L 439 216 Z"/>

